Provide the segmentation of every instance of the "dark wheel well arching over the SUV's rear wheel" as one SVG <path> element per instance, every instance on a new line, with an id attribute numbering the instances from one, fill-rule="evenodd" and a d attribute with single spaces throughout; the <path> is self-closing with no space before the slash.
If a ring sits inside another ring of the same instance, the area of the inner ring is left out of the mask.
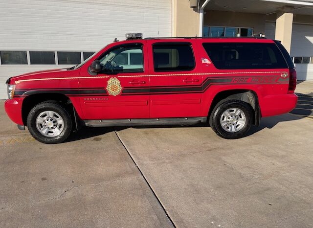
<path id="1" fill-rule="evenodd" d="M 251 105 L 252 109 L 254 110 L 255 116 L 253 123 L 255 125 L 259 124 L 259 116 L 260 116 L 260 108 L 259 108 L 259 101 L 258 96 L 254 91 L 251 90 L 228 90 L 228 91 L 221 91 L 215 95 L 209 110 L 208 116 L 211 115 L 213 109 L 221 100 L 224 99 L 236 99 L 244 101 Z"/>

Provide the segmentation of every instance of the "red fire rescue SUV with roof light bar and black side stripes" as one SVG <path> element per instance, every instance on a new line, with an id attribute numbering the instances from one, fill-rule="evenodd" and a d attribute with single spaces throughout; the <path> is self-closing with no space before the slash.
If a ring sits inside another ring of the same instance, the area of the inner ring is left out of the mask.
<path id="1" fill-rule="evenodd" d="M 79 126 L 195 124 L 243 137 L 296 105 L 296 72 L 279 41 L 127 34 L 72 68 L 7 80 L 5 110 L 44 143 Z"/>

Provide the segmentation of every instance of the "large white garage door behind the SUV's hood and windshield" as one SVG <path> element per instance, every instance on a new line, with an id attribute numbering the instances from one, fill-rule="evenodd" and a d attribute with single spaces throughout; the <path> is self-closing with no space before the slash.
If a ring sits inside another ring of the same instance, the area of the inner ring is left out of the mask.
<path id="1" fill-rule="evenodd" d="M 169 37 L 171 14 L 172 0 L 0 0 L 0 99 L 8 77 L 72 66 L 64 58 L 83 60 L 125 33 Z"/>

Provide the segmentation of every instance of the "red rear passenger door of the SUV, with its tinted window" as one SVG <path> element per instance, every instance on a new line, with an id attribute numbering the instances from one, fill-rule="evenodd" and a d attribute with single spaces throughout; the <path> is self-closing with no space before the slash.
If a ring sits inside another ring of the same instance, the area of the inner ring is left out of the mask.
<path id="1" fill-rule="evenodd" d="M 201 66 L 196 43 L 148 40 L 150 117 L 197 117 L 201 111 Z"/>

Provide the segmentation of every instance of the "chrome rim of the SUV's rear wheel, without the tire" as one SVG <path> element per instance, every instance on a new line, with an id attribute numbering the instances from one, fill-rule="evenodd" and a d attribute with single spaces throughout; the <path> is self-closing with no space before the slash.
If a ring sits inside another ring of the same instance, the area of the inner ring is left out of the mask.
<path id="1" fill-rule="evenodd" d="M 227 109 L 221 116 L 220 124 L 226 132 L 238 132 L 246 124 L 246 115 L 238 108 Z"/>

